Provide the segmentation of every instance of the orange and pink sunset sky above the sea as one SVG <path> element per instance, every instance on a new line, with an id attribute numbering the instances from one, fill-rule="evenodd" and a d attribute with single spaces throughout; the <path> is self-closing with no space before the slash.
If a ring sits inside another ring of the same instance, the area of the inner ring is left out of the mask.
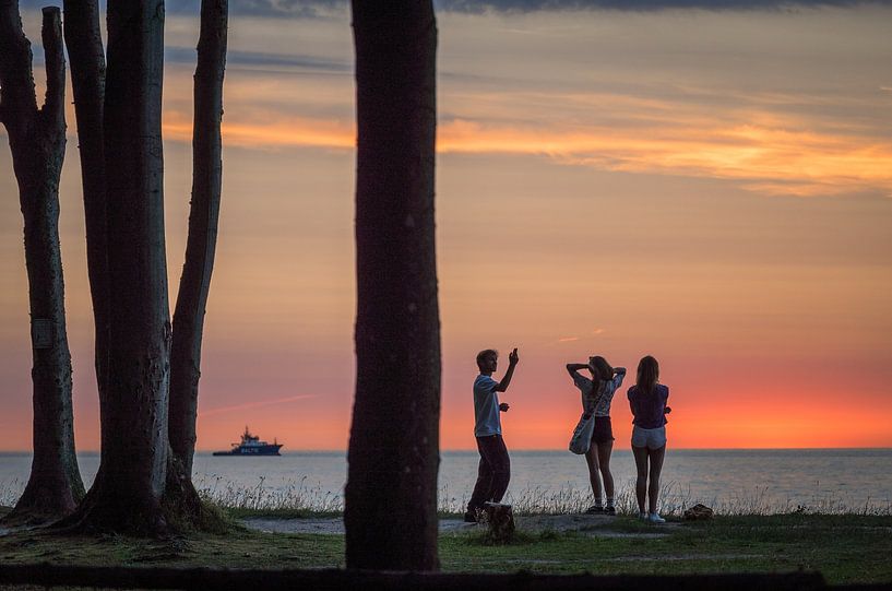
<path id="1" fill-rule="evenodd" d="M 198 447 L 228 448 L 248 424 L 283 451 L 344 449 L 356 309 L 347 4 L 230 4 Z M 512 449 L 566 448 L 580 401 L 563 366 L 593 354 L 632 379 L 642 355 L 659 359 L 671 447 L 892 446 L 892 2 L 436 5 L 443 449 L 474 448 L 477 351 L 503 352 L 498 378 L 512 346 Z M 43 97 L 38 3 L 22 7 Z M 167 8 L 171 307 L 197 7 Z M 71 107 L 68 122 L 75 430 L 95 450 Z M 22 215 L 0 135 L 0 450 L 27 450 Z M 612 416 L 628 449 L 626 387 Z"/>

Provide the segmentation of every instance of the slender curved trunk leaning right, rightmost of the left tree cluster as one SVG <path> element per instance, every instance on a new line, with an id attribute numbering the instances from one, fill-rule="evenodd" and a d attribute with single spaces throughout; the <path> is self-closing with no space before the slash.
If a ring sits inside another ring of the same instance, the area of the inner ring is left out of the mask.
<path id="1" fill-rule="evenodd" d="M 217 244 L 223 178 L 221 119 L 226 68 L 227 0 L 202 0 L 194 81 L 192 203 L 186 263 L 174 311 L 170 351 L 170 447 L 186 474 L 192 473 L 201 339 Z"/>

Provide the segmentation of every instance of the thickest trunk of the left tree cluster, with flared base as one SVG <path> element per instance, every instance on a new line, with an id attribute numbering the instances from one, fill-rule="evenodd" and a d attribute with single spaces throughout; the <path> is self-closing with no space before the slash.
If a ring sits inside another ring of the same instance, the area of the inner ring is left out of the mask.
<path id="1" fill-rule="evenodd" d="M 108 368 L 102 457 L 78 509 L 88 529 L 167 529 L 170 321 L 160 135 L 163 0 L 109 0 L 104 102 Z"/>

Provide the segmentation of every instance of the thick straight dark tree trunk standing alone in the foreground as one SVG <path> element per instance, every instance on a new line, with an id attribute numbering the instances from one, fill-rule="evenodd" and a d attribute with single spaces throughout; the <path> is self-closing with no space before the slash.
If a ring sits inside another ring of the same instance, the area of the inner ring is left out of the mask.
<path id="1" fill-rule="evenodd" d="M 353 0 L 353 28 L 358 302 L 346 562 L 433 570 L 440 462 L 433 7 Z"/>

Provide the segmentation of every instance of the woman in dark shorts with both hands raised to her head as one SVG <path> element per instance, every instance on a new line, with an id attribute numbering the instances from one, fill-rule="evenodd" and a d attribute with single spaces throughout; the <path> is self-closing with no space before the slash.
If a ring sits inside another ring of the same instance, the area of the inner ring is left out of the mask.
<path id="1" fill-rule="evenodd" d="M 580 374 L 580 369 L 587 369 L 592 379 Z M 614 450 L 614 429 L 610 425 L 610 402 L 614 392 L 622 383 L 626 376 L 625 367 L 610 367 L 604 357 L 588 357 L 587 364 L 567 364 L 567 371 L 573 378 L 573 383 L 582 392 L 582 412 L 595 415 L 595 429 L 592 434 L 592 445 L 585 452 L 585 462 L 588 464 L 588 480 L 592 483 L 592 495 L 595 504 L 586 513 L 616 515 L 614 504 L 614 475 L 610 474 L 610 452 Z M 607 494 L 607 505 L 604 505 L 600 481 L 604 478 L 604 493 Z"/>

